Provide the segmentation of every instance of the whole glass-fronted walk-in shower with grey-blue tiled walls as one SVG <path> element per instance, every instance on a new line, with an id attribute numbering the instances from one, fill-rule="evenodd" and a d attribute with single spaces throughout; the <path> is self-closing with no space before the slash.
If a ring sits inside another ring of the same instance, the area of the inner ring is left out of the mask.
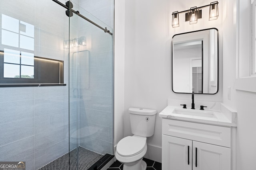
<path id="1" fill-rule="evenodd" d="M 0 1 L 0 166 L 93 170 L 113 158 L 113 29 L 83 9 L 113 23 L 114 0 L 101 2 L 111 15 L 93 0 Z M 62 63 L 60 82 L 30 83 L 54 74 L 38 59 Z"/>

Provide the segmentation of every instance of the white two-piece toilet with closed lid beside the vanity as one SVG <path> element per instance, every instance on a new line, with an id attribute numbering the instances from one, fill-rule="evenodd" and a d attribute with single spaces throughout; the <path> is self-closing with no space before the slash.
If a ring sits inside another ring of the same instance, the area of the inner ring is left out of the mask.
<path id="1" fill-rule="evenodd" d="M 147 152 L 147 137 L 154 134 L 156 110 L 129 108 L 133 136 L 121 139 L 116 146 L 116 159 L 124 164 L 123 170 L 146 170 L 142 160 Z"/>

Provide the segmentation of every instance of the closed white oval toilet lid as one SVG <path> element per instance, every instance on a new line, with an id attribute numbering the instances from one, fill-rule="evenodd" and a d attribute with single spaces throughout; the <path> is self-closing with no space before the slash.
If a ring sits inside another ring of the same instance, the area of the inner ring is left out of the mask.
<path id="1" fill-rule="evenodd" d="M 130 157 L 139 154 L 145 147 L 145 138 L 128 136 L 118 142 L 116 152 L 118 152 L 120 156 Z"/>

